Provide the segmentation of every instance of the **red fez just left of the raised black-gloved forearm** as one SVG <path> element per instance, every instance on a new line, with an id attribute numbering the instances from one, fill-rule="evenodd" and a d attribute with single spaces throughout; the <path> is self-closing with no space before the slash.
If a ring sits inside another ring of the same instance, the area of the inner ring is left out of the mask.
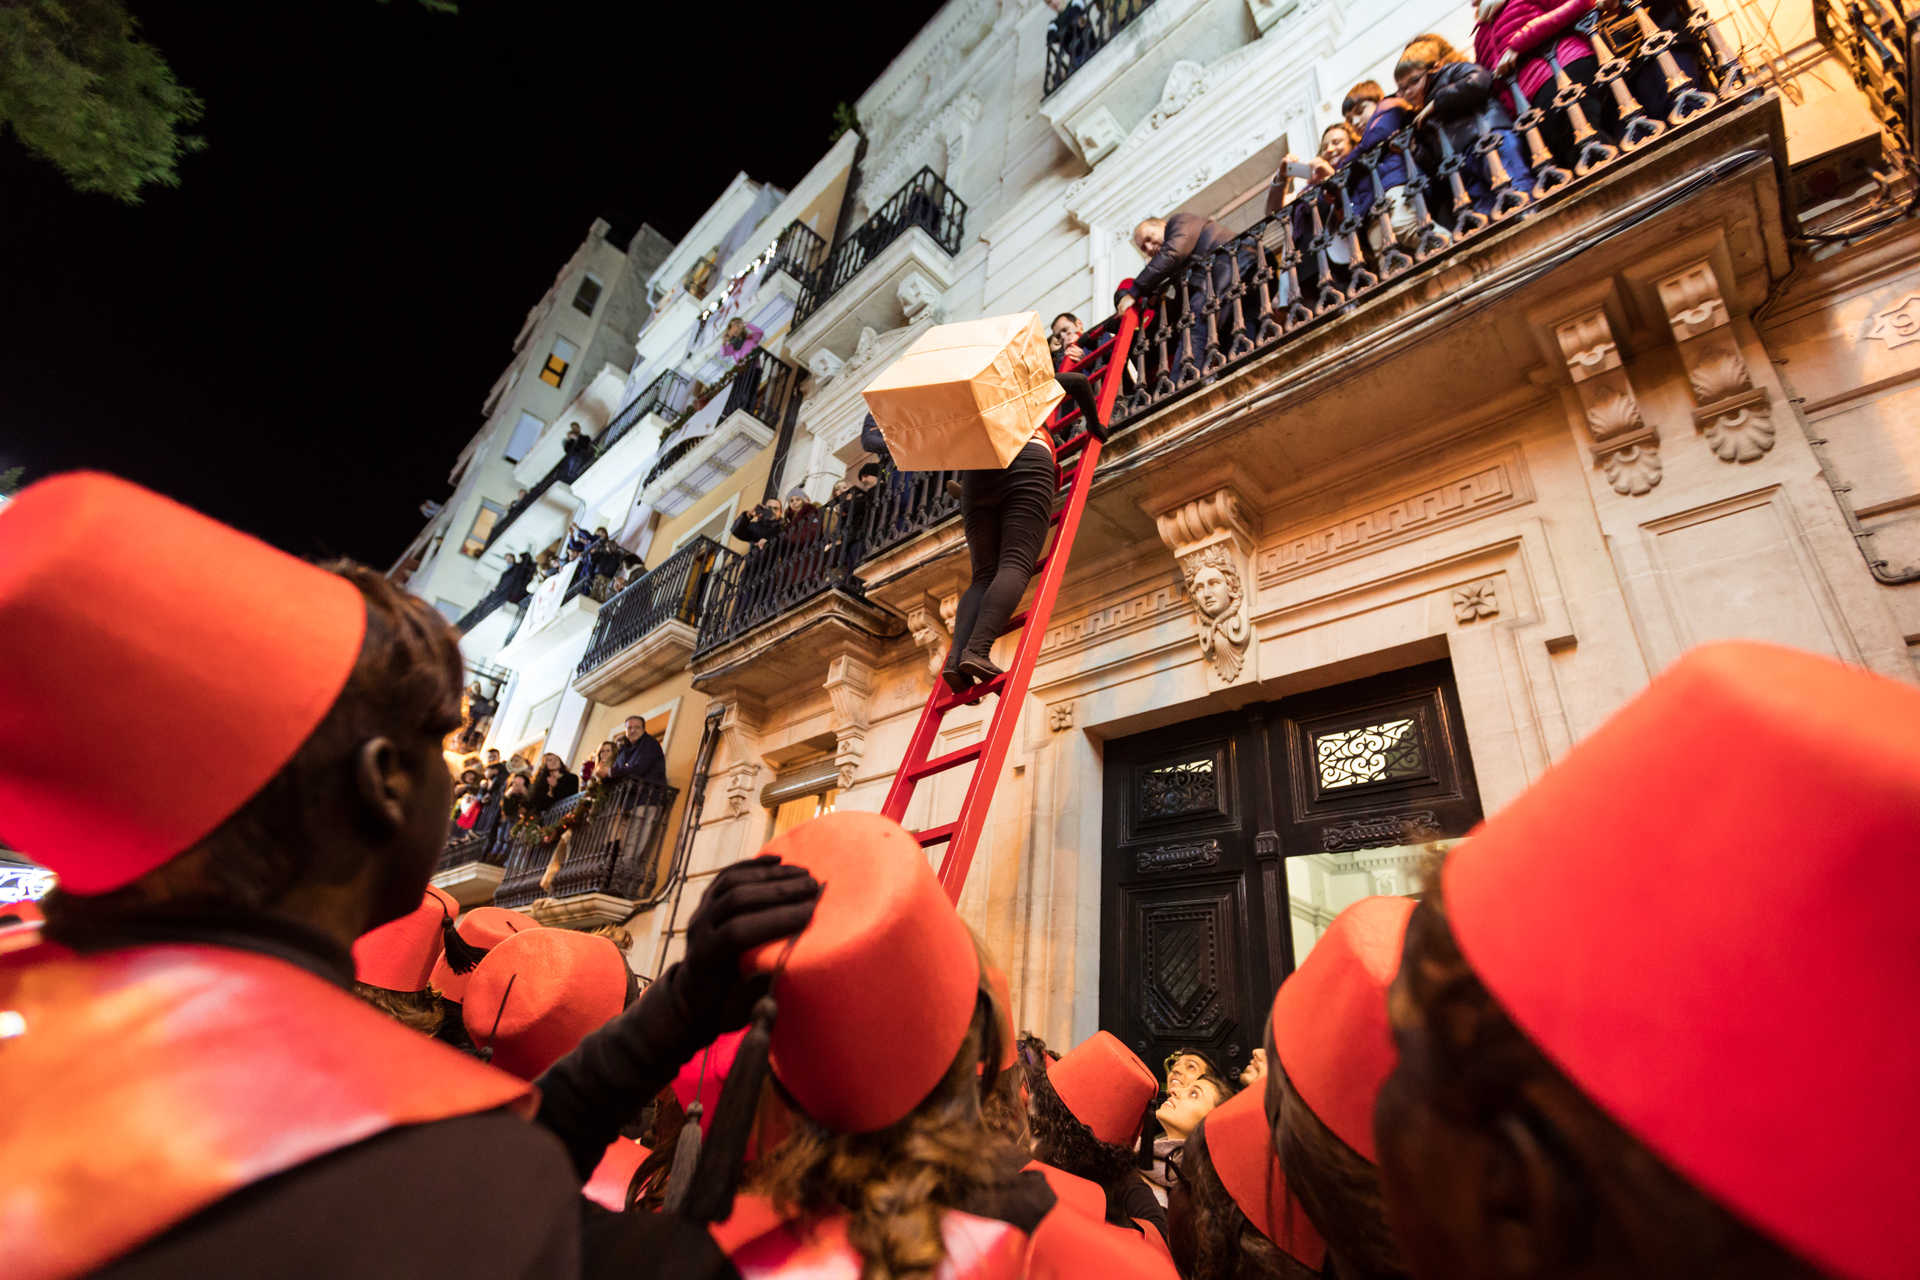
<path id="1" fill-rule="evenodd" d="M 620 948 L 591 933 L 528 929 L 486 954 L 467 979 L 467 1036 L 501 1071 L 532 1080 L 626 1007 Z"/>

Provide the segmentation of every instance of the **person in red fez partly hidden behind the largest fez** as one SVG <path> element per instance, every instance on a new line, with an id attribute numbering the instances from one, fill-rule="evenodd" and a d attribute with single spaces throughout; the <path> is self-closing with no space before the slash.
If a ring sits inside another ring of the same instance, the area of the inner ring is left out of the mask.
<path id="1" fill-rule="evenodd" d="M 1361 898 L 1334 915 L 1267 1015 L 1273 1150 L 1340 1276 L 1407 1274 L 1386 1224 L 1373 1105 L 1394 1069 L 1386 988 L 1411 913 L 1411 898 Z"/>

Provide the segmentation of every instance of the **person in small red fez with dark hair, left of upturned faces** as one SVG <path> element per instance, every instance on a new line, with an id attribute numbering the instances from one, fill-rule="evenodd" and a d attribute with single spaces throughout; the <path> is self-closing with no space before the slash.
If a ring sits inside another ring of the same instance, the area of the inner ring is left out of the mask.
<path id="1" fill-rule="evenodd" d="M 1139 1055 L 1106 1031 L 1060 1061 L 1027 1071 L 1033 1153 L 1106 1192 L 1106 1221 L 1167 1236 L 1167 1217 L 1135 1167 L 1146 1109 L 1160 1084 Z"/>

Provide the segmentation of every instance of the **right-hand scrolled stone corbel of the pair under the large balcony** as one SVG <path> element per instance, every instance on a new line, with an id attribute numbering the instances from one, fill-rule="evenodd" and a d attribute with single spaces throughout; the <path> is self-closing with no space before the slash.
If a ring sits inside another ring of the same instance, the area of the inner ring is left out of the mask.
<path id="1" fill-rule="evenodd" d="M 1693 426 L 1722 462 L 1753 462 L 1774 447 L 1774 411 L 1740 355 L 1734 319 L 1711 259 L 1655 284 L 1693 391 Z"/>

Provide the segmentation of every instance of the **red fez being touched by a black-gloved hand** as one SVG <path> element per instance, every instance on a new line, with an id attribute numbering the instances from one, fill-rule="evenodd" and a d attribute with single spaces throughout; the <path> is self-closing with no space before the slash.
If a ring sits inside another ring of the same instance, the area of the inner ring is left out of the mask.
<path id="1" fill-rule="evenodd" d="M 826 1128 L 885 1128 L 933 1092 L 966 1040 L 973 935 L 918 841 L 879 814 L 828 814 L 762 852 L 824 885 L 791 952 L 772 942 L 749 958 L 758 973 L 778 969 L 774 1075 Z"/>

